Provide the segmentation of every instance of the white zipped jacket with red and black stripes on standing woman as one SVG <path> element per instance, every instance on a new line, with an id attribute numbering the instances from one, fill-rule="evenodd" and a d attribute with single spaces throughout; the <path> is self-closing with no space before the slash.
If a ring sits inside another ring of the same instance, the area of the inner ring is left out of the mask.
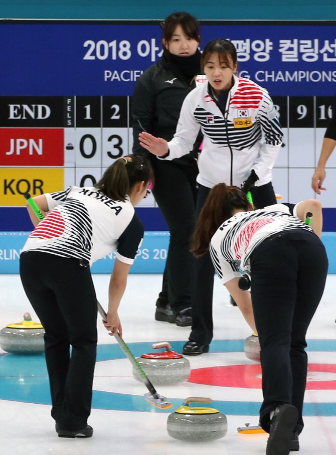
<path id="1" fill-rule="evenodd" d="M 230 184 L 231 160 L 233 185 L 240 186 L 252 169 L 259 177 L 256 186 L 269 183 L 283 134 L 267 90 L 234 76 L 224 113 L 209 90 L 210 84 L 205 82 L 185 98 L 176 134 L 168 142 L 170 155 L 165 159 L 189 153 L 201 127 L 200 184 L 208 188 L 220 182 Z"/>

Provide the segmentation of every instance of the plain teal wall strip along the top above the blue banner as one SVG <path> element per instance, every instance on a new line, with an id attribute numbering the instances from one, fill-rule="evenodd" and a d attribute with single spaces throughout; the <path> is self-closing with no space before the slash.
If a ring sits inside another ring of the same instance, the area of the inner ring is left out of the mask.
<path id="1" fill-rule="evenodd" d="M 198 19 L 334 20 L 335 0 L 0 0 L 1 18 L 25 19 L 164 19 L 187 11 Z"/>

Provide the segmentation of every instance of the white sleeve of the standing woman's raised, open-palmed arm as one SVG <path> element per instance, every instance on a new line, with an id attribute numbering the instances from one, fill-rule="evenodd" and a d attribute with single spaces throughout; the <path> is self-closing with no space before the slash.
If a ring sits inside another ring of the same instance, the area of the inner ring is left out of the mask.
<path id="1" fill-rule="evenodd" d="M 194 89 L 196 91 L 197 89 Z M 181 108 L 176 133 L 168 142 L 169 156 L 165 160 L 174 160 L 187 155 L 194 148 L 197 135 L 200 131 L 200 123 L 194 117 L 195 93 L 189 93 Z"/>

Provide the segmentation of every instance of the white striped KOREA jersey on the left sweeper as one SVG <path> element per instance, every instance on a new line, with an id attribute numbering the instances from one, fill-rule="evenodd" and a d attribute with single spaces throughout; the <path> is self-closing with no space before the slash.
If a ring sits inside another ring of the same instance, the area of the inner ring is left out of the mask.
<path id="1" fill-rule="evenodd" d="M 113 201 L 94 187 L 75 186 L 45 197 L 49 212 L 32 231 L 22 252 L 86 259 L 91 265 L 116 251 L 120 261 L 133 263 L 143 225 L 128 199 Z"/>

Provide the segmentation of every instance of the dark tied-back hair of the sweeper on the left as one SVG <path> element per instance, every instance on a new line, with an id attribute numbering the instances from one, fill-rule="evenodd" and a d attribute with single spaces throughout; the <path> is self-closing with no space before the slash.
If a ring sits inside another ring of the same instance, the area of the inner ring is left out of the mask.
<path id="1" fill-rule="evenodd" d="M 153 185 L 154 174 L 149 161 L 142 155 L 128 155 L 107 168 L 95 188 L 114 201 L 124 202 L 135 184 L 147 185 L 150 181 Z"/>

